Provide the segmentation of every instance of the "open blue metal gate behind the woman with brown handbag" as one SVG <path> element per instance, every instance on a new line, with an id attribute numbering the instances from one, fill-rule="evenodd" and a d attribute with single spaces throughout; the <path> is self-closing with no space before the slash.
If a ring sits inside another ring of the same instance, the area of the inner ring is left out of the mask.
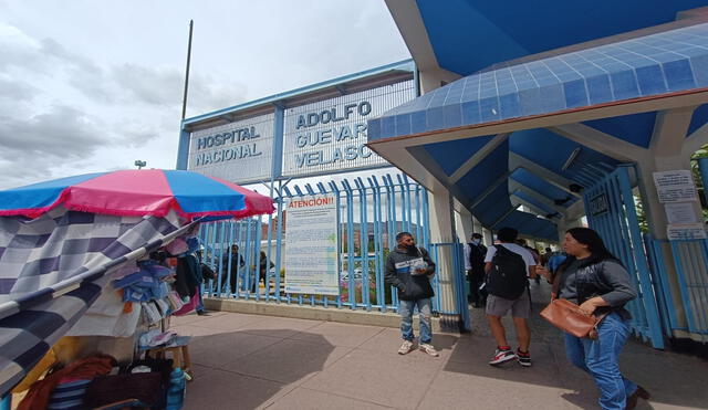
<path id="1" fill-rule="evenodd" d="M 655 348 L 664 348 L 655 296 L 659 284 L 652 281 L 629 183 L 629 169 L 622 166 L 585 190 L 583 199 L 587 222 L 625 265 L 638 291 L 638 297 L 627 304 L 635 334 L 649 340 Z"/>

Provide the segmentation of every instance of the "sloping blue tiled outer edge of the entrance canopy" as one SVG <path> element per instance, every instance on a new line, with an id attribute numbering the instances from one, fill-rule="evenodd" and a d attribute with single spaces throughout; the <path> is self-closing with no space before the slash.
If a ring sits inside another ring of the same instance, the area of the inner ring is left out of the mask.
<path id="1" fill-rule="evenodd" d="M 708 23 L 460 78 L 369 120 L 368 139 L 705 86 L 708 86 Z"/>

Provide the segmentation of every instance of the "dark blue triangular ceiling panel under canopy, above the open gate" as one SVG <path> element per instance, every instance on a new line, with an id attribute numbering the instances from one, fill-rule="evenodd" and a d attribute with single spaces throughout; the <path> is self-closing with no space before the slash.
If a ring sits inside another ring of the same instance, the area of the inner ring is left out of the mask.
<path id="1" fill-rule="evenodd" d="M 656 112 L 623 115 L 584 122 L 583 124 L 627 143 L 647 148 L 656 123 Z"/>

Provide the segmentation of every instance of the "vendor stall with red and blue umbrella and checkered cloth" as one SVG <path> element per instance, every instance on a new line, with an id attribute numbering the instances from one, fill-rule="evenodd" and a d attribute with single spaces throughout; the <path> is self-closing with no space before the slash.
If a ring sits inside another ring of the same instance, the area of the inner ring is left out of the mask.
<path id="1" fill-rule="evenodd" d="M 40 378 L 20 408 L 42 408 L 37 403 L 48 403 L 56 389 L 59 397 L 101 407 L 101 398 L 131 396 L 104 391 L 118 386 L 105 378 L 121 378 L 119 386 L 138 378 L 149 383 L 153 376 L 133 376 L 140 374 L 160 374 L 153 382 L 175 390 L 184 381 L 187 349 L 173 350 L 180 351 L 174 357 L 178 371 L 155 370 L 168 347 L 188 345 L 164 318 L 199 304 L 199 222 L 272 211 L 268 197 L 189 171 L 92 174 L 0 191 L 0 395 Z M 52 346 L 71 345 L 71 338 L 56 345 L 63 336 L 124 338 L 137 354 L 121 364 L 84 357 L 46 374 L 61 361 L 48 355 Z M 154 357 L 135 361 L 153 349 L 159 350 Z M 119 374 L 110 375 L 115 365 L 122 365 Z"/>

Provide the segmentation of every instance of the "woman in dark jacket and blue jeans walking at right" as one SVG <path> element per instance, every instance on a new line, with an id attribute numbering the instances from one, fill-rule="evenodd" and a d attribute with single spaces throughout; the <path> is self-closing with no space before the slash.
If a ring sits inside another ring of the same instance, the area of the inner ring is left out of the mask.
<path id="1" fill-rule="evenodd" d="M 633 409 L 639 397 L 648 399 L 649 393 L 622 376 L 617 360 L 631 333 L 632 316 L 624 305 L 637 296 L 629 274 L 592 229 L 568 230 L 563 249 L 569 257 L 552 278 L 551 297 L 576 303 L 587 314 L 606 314 L 595 340 L 564 333 L 565 355 L 595 379 L 600 407 Z M 538 273 L 550 277 L 545 269 Z"/>

